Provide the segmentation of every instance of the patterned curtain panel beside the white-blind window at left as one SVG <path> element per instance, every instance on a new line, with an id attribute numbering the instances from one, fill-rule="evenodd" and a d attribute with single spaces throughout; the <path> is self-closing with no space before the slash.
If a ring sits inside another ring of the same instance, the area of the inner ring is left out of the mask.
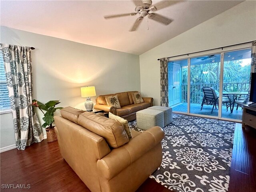
<path id="1" fill-rule="evenodd" d="M 0 44 L 13 115 L 16 147 L 24 150 L 41 142 L 42 128 L 32 104 L 32 65 L 30 47 Z"/>

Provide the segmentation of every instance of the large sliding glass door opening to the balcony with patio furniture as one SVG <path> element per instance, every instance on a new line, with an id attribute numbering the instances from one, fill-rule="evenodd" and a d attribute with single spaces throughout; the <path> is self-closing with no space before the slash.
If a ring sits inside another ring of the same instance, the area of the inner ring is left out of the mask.
<path id="1" fill-rule="evenodd" d="M 170 61 L 169 106 L 182 114 L 242 120 L 250 63 L 251 49 Z"/>

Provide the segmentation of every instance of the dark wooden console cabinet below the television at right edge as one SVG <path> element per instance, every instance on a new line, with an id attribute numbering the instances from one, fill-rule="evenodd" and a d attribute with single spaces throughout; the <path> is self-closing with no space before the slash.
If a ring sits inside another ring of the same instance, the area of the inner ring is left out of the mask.
<path id="1" fill-rule="evenodd" d="M 250 107 L 248 105 L 243 105 L 243 117 L 242 117 L 242 127 L 248 125 L 256 129 L 256 108 Z"/>

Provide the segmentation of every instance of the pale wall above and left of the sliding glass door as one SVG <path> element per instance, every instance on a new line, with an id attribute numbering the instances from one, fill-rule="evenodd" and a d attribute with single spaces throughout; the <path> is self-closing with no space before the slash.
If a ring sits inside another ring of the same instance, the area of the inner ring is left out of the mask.
<path id="1" fill-rule="evenodd" d="M 256 1 L 245 1 L 140 55 L 140 87 L 160 105 L 158 58 L 256 40 Z"/>

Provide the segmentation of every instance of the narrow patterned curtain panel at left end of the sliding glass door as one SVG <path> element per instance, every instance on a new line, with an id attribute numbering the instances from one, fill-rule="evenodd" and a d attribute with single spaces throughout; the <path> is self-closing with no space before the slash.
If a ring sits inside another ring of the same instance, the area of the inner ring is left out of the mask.
<path id="1" fill-rule="evenodd" d="M 160 59 L 160 88 L 161 88 L 161 106 L 169 106 L 168 96 L 168 59 Z"/>

